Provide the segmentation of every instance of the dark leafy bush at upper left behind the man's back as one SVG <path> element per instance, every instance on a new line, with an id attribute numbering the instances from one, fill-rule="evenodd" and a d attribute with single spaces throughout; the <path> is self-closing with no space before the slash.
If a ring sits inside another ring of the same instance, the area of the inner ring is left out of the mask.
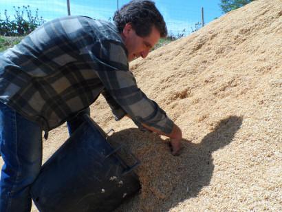
<path id="1" fill-rule="evenodd" d="M 14 19 L 10 19 L 8 11 L 5 10 L 5 19 L 2 19 L 0 13 L 0 35 L 3 36 L 24 36 L 30 34 L 39 25 L 44 23 L 43 18 L 39 18 L 38 10 L 36 10 L 35 16 L 32 16 L 30 6 L 23 6 L 23 10 L 20 7 L 17 9 L 14 7 Z M 27 17 L 27 19 L 25 19 Z"/>

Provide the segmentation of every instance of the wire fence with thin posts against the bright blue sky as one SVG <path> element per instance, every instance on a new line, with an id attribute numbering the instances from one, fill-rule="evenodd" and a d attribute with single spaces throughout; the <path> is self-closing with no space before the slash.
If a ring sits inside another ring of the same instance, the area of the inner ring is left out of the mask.
<path id="1" fill-rule="evenodd" d="M 50 21 L 57 17 L 68 14 L 85 15 L 94 19 L 112 20 L 113 13 L 130 0 L 0 0 L 1 19 L 5 17 L 5 10 L 10 19 L 14 18 L 15 9 L 23 6 L 30 6 L 33 15 L 38 9 L 39 17 L 45 21 Z M 69 5 L 68 5 L 69 2 Z M 196 8 L 189 6 L 189 2 L 177 3 L 177 1 L 155 0 L 155 4 L 164 16 L 169 35 L 174 36 L 191 34 L 191 32 L 202 27 L 202 17 L 204 25 L 219 18 L 221 12 L 218 8 L 207 8 L 205 6 Z M 69 7 L 68 7 L 69 6 Z M 203 9 L 202 9 L 203 8 Z M 68 10 L 69 9 L 69 10 Z M 204 14 L 202 14 L 204 10 Z"/>

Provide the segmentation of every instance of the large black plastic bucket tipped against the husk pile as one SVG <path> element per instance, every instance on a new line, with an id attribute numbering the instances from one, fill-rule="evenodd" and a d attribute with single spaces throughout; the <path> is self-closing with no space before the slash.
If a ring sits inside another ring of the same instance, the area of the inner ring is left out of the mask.
<path id="1" fill-rule="evenodd" d="M 140 189 L 132 167 L 117 155 L 89 116 L 45 162 L 31 187 L 41 212 L 112 211 Z"/>

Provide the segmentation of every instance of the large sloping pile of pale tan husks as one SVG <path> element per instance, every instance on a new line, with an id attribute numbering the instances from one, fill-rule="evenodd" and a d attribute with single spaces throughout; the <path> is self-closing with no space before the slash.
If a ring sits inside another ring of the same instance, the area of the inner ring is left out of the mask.
<path id="1" fill-rule="evenodd" d="M 111 145 L 140 160 L 142 189 L 116 211 L 282 211 L 281 7 L 253 1 L 130 63 L 182 129 L 177 156 L 169 138 L 113 120 L 102 96 L 91 105 Z M 44 160 L 66 139 L 66 125 L 51 131 Z"/>

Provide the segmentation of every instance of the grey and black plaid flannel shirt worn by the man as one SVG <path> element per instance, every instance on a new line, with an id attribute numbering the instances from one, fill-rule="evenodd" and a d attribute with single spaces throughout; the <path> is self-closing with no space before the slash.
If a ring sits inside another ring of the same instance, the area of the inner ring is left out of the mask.
<path id="1" fill-rule="evenodd" d="M 54 19 L 0 52 L 0 100 L 50 131 L 102 92 L 117 120 L 129 114 L 138 127 L 170 134 L 173 122 L 138 88 L 127 57 L 113 23 Z"/>

